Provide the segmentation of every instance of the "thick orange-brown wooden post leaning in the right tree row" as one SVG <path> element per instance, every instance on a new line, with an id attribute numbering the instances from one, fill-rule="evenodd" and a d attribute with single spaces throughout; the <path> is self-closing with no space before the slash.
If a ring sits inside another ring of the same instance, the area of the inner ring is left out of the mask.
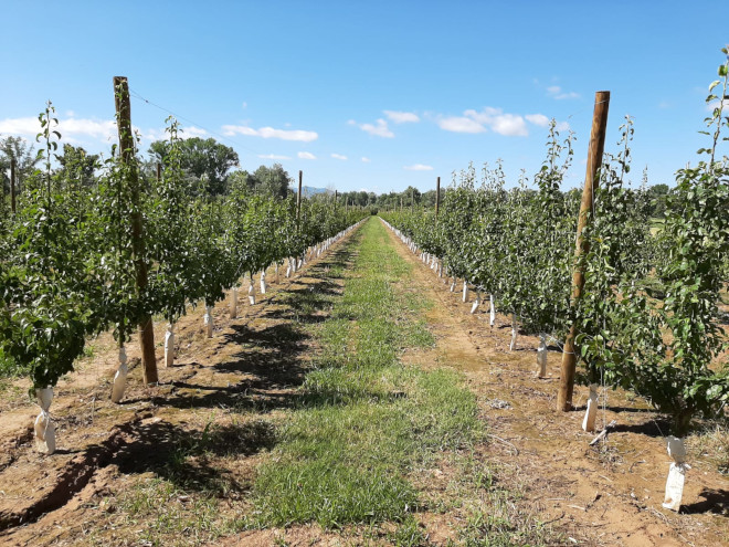
<path id="1" fill-rule="evenodd" d="M 590 147 L 588 150 L 588 170 L 584 176 L 584 189 L 582 190 L 582 202 L 580 203 L 580 218 L 578 219 L 577 244 L 574 249 L 575 267 L 572 274 L 572 306 L 582 296 L 584 287 L 584 271 L 579 265 L 582 254 L 590 251 L 590 242 L 582 238 L 582 231 L 590 222 L 592 212 L 592 199 L 598 188 L 600 178 L 598 170 L 602 165 L 602 152 L 605 147 L 605 130 L 608 128 L 608 108 L 610 106 L 610 92 L 595 93 L 595 107 L 592 114 L 592 132 L 590 134 Z M 557 396 L 557 408 L 563 412 L 572 410 L 572 391 L 574 389 L 574 371 L 577 365 L 574 338 L 577 326 L 573 324 L 564 340 L 562 349 L 562 369 L 560 374 L 559 393 Z"/>

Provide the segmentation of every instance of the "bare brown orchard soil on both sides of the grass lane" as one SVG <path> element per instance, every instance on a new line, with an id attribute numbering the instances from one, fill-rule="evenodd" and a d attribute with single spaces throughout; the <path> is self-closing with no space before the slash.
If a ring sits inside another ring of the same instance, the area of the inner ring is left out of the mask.
<path id="1" fill-rule="evenodd" d="M 627 393 L 609 391 L 598 421 L 614 419 L 617 427 L 606 442 L 589 446 L 594 434 L 582 432 L 582 412 L 553 410 L 561 355 L 550 351 L 550 378 L 536 378 L 536 338 L 520 336 L 517 350 L 509 351 L 506 317 L 497 315 L 492 329 L 486 306 L 471 315 L 459 293 L 451 293 L 387 233 L 388 244 L 411 266 L 409 282 L 397 290 L 430 303 L 420 313 L 436 340 L 431 348 L 405 348 L 402 362 L 458 371 L 485 427 L 468 454 L 444 457 L 416 487 L 429 498 L 472 496 L 471 487 L 453 487 L 464 469 L 458 459 L 472 459 L 493 475 L 478 496 L 494 503 L 498 494 L 499 512 L 514 517 L 513 529 L 499 536 L 503 543 L 488 543 L 488 530 L 498 525 L 475 523 L 465 497 L 439 511 L 434 504 L 415 511 L 419 533 L 410 536 L 387 522 L 339 529 L 240 525 L 241 515 L 255 511 L 249 493 L 256 471 L 274 453 L 276 429 L 300 404 L 300 385 L 320 350 L 309 327 L 326 322 L 330 309 L 302 306 L 302 298 L 341 296 L 348 275 L 334 272 L 351 270 L 355 236 L 292 280 L 282 275 L 273 283 L 270 271 L 270 291 L 253 307 L 241 291 L 240 318 L 230 319 L 226 301 L 219 303 L 211 339 L 202 334 L 203 311 L 191 309 L 177 326 L 178 358 L 168 369 L 158 324 L 159 386 L 142 385 L 133 341 L 135 366 L 119 406 L 108 401 L 113 340 L 109 335 L 94 340 L 93 353 L 55 390 L 51 412 L 59 450 L 52 456 L 35 452 L 38 407 L 28 402 L 28 387 L 21 381 L 6 387 L 0 545 L 729 545 L 729 477 L 718 469 L 727 455 L 716 454 L 707 435 L 689 439 L 682 512 L 664 509 L 669 457 L 659 415 Z M 578 408 L 585 397 L 577 388 Z"/>

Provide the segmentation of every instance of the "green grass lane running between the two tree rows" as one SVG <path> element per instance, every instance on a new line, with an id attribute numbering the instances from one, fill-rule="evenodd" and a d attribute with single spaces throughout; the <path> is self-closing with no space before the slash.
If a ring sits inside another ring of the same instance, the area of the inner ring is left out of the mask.
<path id="1" fill-rule="evenodd" d="M 358 248 L 352 267 L 330 272 L 345 276 L 345 294 L 311 327 L 323 349 L 302 407 L 260 469 L 256 516 L 247 525 L 392 520 L 416 545 L 412 513 L 423 495 L 409 475 L 443 451 L 473 446 L 480 435 L 476 400 L 455 372 L 400 364 L 404 348 L 434 340 L 419 316 L 424 304 L 399 290 L 411 266 L 384 227 L 372 219 L 350 245 Z"/>

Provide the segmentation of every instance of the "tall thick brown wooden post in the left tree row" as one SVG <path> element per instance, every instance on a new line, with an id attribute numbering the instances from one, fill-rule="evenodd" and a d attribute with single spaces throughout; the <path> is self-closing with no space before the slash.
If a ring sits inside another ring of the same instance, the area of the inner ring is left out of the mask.
<path id="1" fill-rule="evenodd" d="M 137 277 L 137 295 L 147 287 L 147 263 L 145 262 L 145 235 L 139 204 L 139 172 L 135 165 L 134 135 L 131 134 L 131 106 L 129 103 L 129 83 L 125 76 L 114 76 L 114 102 L 116 105 L 117 126 L 122 161 L 127 164 L 128 182 L 131 190 L 131 252 Z M 155 332 L 151 315 L 146 313 L 139 318 L 139 344 L 145 383 L 156 383 L 157 359 L 155 357 Z"/>

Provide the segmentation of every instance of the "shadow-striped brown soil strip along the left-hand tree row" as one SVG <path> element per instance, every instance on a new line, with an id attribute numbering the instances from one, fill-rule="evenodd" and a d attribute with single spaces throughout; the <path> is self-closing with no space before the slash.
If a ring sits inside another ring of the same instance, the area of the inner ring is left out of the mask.
<path id="1" fill-rule="evenodd" d="M 0 401 L 0 545 L 147 545 L 138 539 L 141 529 L 123 529 L 129 523 L 116 516 L 115 504 L 165 473 L 190 492 L 165 505 L 189 506 L 194 514 L 197 497 L 214 490 L 229 499 L 226 518 L 250 509 L 244 497 L 260 452 L 273 443 L 272 423 L 296 403 L 296 388 L 315 349 L 297 325 L 321 320 L 327 313 L 295 309 L 287 301 L 315 288 L 340 292 L 342 281 L 327 272 L 332 262 L 346 260 L 337 252 L 341 246 L 310 260 L 290 280 L 282 270 L 281 283 L 270 269 L 266 295 L 256 278 L 255 306 L 239 291 L 236 319 L 229 317 L 226 295 L 213 311 L 213 338 L 202 330 L 204 308 L 189 309 L 176 326 L 173 367 L 165 368 L 165 325 L 156 324 L 157 386 L 142 383 L 138 340 L 133 339 L 120 404 L 109 401 L 117 367 L 114 340 L 110 334 L 93 340 L 93 355 L 54 390 L 57 450 L 51 456 L 35 450 L 32 427 L 39 408 L 29 402 L 30 385 L 18 380 L 7 389 Z M 175 451 L 197 454 L 203 442 L 194 465 L 184 464 L 191 469 L 166 463 Z M 140 520 L 137 526 L 144 528 Z"/>

